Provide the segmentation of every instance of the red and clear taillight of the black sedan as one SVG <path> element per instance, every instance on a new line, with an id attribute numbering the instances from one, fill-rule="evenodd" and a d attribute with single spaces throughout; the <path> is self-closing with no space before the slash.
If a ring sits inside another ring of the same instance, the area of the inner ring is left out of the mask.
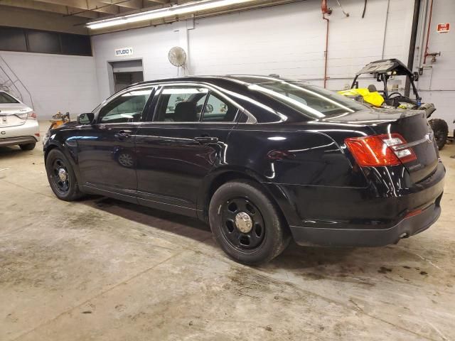
<path id="1" fill-rule="evenodd" d="M 417 159 L 400 134 L 352 137 L 345 144 L 360 167 L 397 166 Z"/>

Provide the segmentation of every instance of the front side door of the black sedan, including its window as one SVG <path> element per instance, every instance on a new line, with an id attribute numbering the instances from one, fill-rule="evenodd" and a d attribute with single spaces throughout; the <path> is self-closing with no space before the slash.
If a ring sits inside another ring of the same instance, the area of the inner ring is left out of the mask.
<path id="1" fill-rule="evenodd" d="M 137 202 L 134 143 L 145 104 L 153 86 L 134 87 L 95 112 L 93 124 L 77 136 L 77 161 L 87 190 Z"/>

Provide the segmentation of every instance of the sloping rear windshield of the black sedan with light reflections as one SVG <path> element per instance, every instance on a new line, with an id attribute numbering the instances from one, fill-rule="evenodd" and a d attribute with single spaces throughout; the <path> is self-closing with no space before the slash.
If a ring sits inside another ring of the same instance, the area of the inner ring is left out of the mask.
<path id="1" fill-rule="evenodd" d="M 365 106 L 336 92 L 304 82 L 276 81 L 249 86 L 302 114 L 321 119 L 364 110 Z"/>

